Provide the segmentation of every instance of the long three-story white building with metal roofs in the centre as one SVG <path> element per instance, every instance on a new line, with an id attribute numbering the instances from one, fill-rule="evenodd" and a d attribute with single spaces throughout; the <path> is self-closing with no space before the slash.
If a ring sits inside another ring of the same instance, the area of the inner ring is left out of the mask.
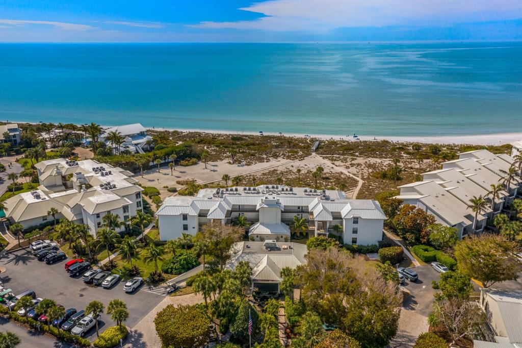
<path id="1" fill-rule="evenodd" d="M 313 235 L 334 233 L 345 243 L 369 245 L 382 240 L 386 219 L 381 207 L 372 200 L 348 200 L 341 191 L 318 191 L 284 185 L 203 189 L 196 197 L 174 196 L 165 199 L 156 216 L 160 239 L 195 235 L 208 223 L 233 223 L 239 215 L 251 223 L 250 239 L 289 240 L 294 216 L 304 218 Z"/>

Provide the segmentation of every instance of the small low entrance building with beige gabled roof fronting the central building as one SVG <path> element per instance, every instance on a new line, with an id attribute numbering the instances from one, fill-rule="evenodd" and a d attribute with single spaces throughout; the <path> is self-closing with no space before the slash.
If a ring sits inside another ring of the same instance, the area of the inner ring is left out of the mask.
<path id="1" fill-rule="evenodd" d="M 306 263 L 306 245 L 277 242 L 276 247 L 265 247 L 264 242 L 238 242 L 232 246 L 232 257 L 227 268 L 234 270 L 240 261 L 252 267 L 252 288 L 259 292 L 279 292 L 281 269 L 291 269 Z"/>

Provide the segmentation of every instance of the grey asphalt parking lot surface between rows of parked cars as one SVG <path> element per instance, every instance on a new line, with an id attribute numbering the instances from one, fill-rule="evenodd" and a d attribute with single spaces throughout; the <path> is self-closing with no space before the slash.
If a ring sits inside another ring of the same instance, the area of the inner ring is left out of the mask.
<path id="1" fill-rule="evenodd" d="M 6 271 L 0 276 L 4 286 L 13 289 L 15 295 L 33 289 L 37 297 L 54 299 L 66 309 L 71 307 L 77 310 L 85 309 L 93 300 L 101 301 L 106 307 L 112 299 L 121 299 L 127 304 L 129 317 L 125 324 L 130 328 L 133 328 L 164 298 L 146 291 L 147 286 L 127 294 L 123 291 L 124 281 L 116 283 L 110 289 L 85 284 L 81 280 L 81 274 L 70 277 L 64 270 L 64 264 L 69 260 L 47 265 L 33 257 L 29 249 L 20 250 L 2 257 L 0 266 L 3 266 Z M 114 324 L 109 315 L 103 314 L 99 321 L 100 332 Z M 95 339 L 96 330 L 92 329 L 88 332 L 86 338 Z"/>

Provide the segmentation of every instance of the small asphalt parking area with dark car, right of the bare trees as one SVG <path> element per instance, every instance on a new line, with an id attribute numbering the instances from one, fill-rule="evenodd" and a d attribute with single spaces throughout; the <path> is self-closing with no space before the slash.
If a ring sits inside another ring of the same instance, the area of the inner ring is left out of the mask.
<path id="1" fill-rule="evenodd" d="M 430 315 L 433 302 L 435 301 L 431 282 L 439 281 L 441 276 L 431 265 L 413 267 L 413 270 L 417 272 L 419 279 L 416 282 L 406 280 L 405 283 L 402 284 L 402 286 L 411 292 L 411 296 L 405 301 L 403 307 L 408 310 L 414 310 L 418 314 L 427 317 Z"/>

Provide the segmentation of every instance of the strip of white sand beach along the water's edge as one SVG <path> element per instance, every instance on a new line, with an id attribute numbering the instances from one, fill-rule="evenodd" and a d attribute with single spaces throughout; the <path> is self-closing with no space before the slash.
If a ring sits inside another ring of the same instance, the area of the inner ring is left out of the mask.
<path id="1" fill-rule="evenodd" d="M 29 123 L 38 124 L 40 122 L 24 122 L 24 121 L 8 121 L 10 123 Z M 139 123 L 139 122 L 138 122 Z M 77 124 L 80 125 L 80 124 Z M 114 127 L 115 125 L 100 125 L 101 127 Z M 236 134 L 236 135 L 260 135 L 259 132 L 248 131 L 224 131 L 224 130 L 201 130 L 201 129 L 184 129 L 170 127 L 145 126 L 145 129 L 154 131 L 179 131 L 179 132 L 198 132 L 205 134 Z M 328 134 L 303 134 L 303 133 L 276 133 L 263 132 L 265 135 L 290 136 L 295 138 L 316 138 L 318 140 L 343 140 L 343 141 L 381 141 L 388 140 L 396 143 L 424 143 L 424 144 L 469 144 L 469 145 L 503 145 L 516 141 L 522 141 L 522 130 L 513 133 L 494 133 L 494 134 L 476 134 L 476 135 L 437 135 L 437 136 L 373 136 L 358 135 L 357 138 L 347 135 L 328 135 Z"/>

